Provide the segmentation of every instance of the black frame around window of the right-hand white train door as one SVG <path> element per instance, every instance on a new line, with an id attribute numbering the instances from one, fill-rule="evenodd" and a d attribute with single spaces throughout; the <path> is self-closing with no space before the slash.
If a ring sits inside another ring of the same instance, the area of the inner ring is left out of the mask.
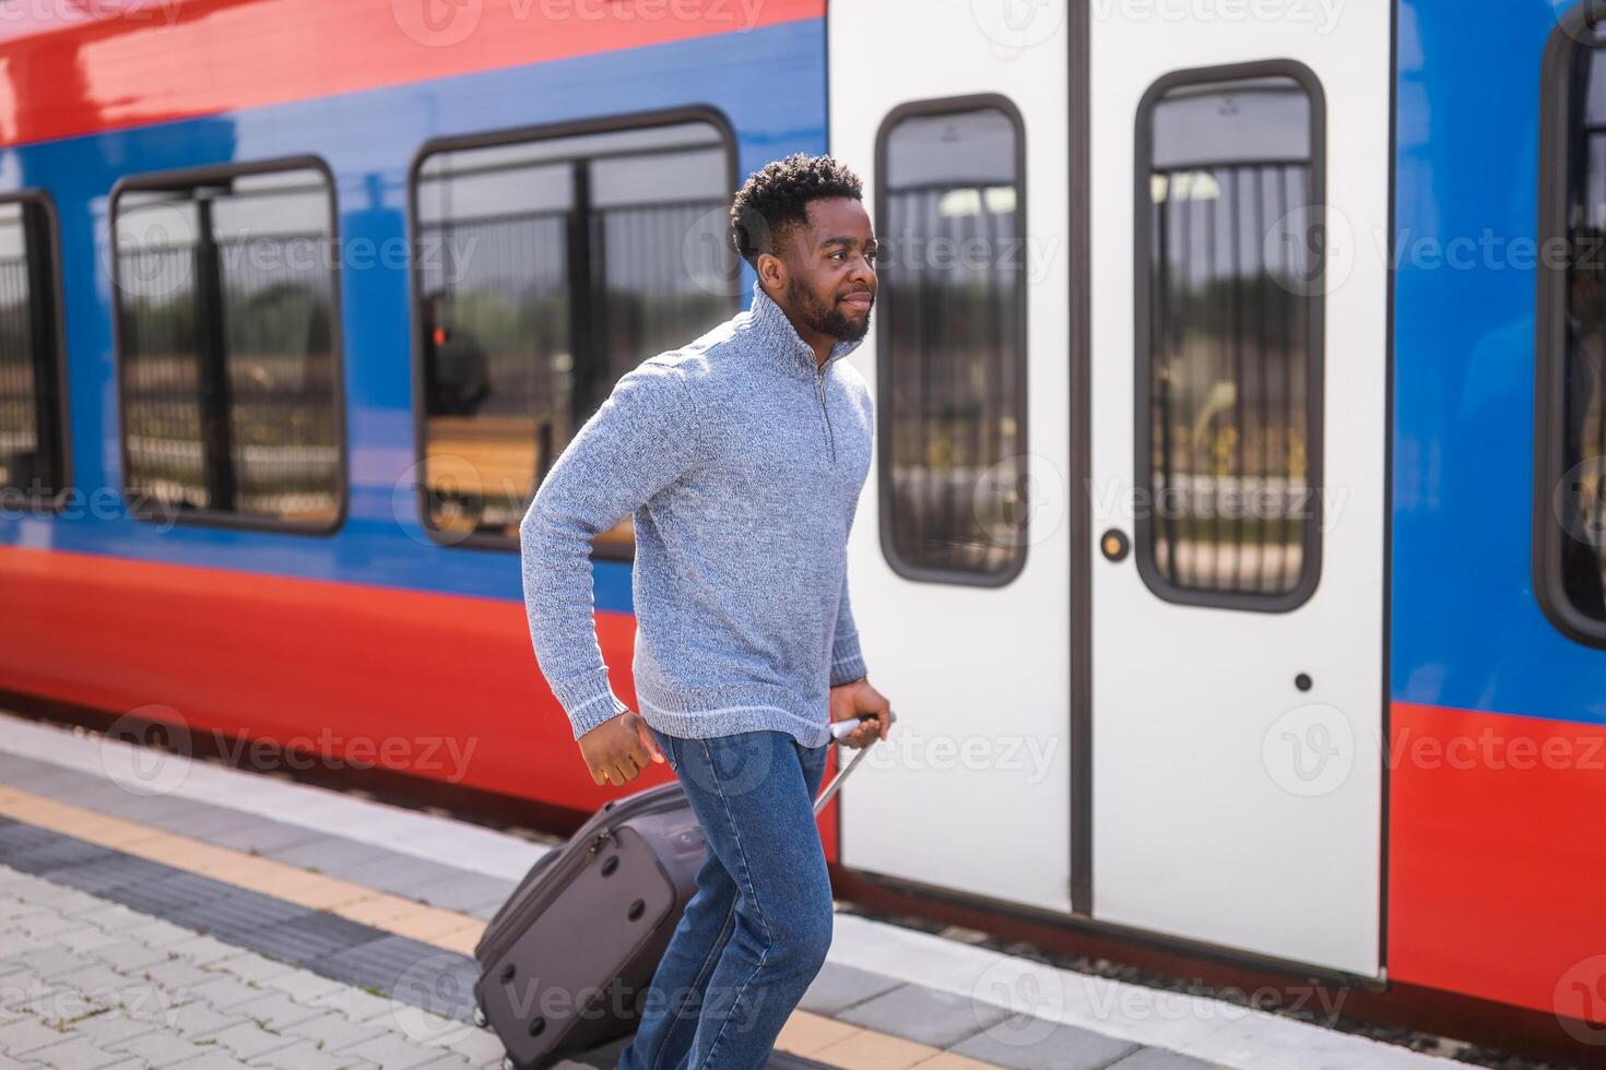
<path id="1" fill-rule="evenodd" d="M 1153 351 L 1150 316 L 1153 295 L 1152 281 L 1152 229 L 1153 193 L 1150 172 L 1153 168 L 1153 117 L 1155 107 L 1169 93 L 1184 85 L 1211 85 L 1243 79 L 1285 77 L 1304 88 L 1310 101 L 1310 226 L 1327 225 L 1327 95 L 1315 71 L 1298 59 L 1261 59 L 1211 67 L 1172 71 L 1155 80 L 1137 106 L 1134 167 L 1132 167 L 1132 454 L 1134 488 L 1143 494 L 1153 489 Z M 1322 252 L 1319 278 L 1325 279 L 1327 253 Z M 1176 605 L 1243 610 L 1253 613 L 1288 613 L 1299 608 L 1315 594 L 1322 582 L 1322 494 L 1327 486 L 1327 290 L 1312 295 L 1309 311 L 1309 351 L 1306 355 L 1306 404 L 1310 407 L 1306 443 L 1306 470 L 1310 488 L 1302 542 L 1302 574 L 1299 582 L 1283 594 L 1254 594 L 1241 590 L 1200 590 L 1171 582 L 1155 566 L 1153 504 L 1139 509 L 1134 520 L 1134 557 L 1143 584 L 1155 597 Z"/>

